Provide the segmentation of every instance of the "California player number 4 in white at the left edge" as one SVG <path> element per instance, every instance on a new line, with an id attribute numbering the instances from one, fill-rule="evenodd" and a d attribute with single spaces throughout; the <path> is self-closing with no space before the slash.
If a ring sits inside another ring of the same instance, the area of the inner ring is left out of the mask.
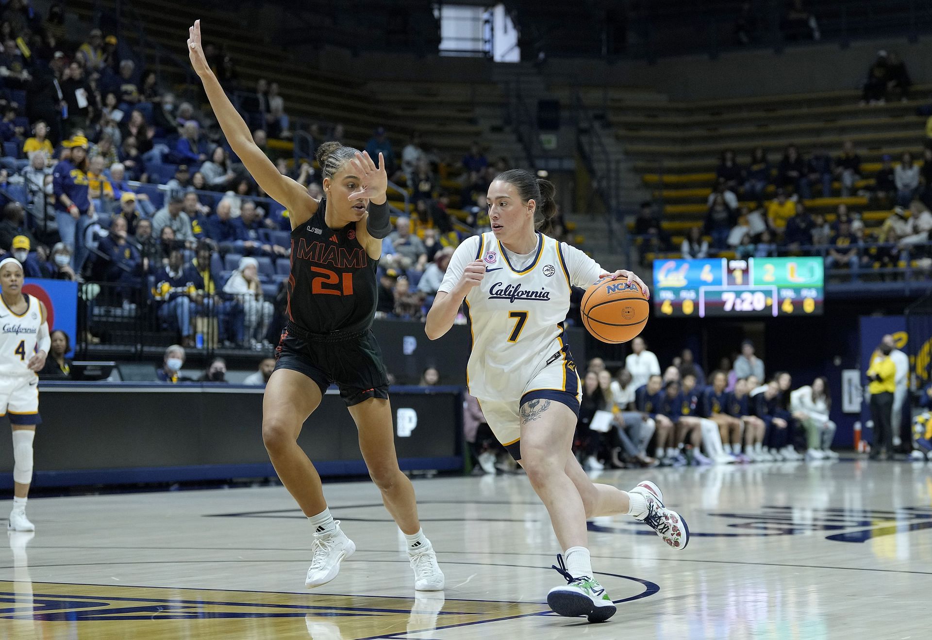
<path id="1" fill-rule="evenodd" d="M 13 428 L 13 510 L 9 531 L 34 531 L 26 517 L 33 482 L 33 440 L 39 416 L 39 377 L 51 346 L 42 300 L 22 292 L 22 265 L 0 260 L 0 416 Z"/>

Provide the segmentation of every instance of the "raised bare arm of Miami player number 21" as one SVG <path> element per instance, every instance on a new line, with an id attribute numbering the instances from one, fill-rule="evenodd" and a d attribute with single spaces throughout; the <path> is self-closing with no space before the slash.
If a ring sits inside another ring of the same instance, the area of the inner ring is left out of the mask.
<path id="1" fill-rule="evenodd" d="M 213 114 L 224 131 L 226 141 L 240 156 L 240 161 L 255 181 L 274 200 L 288 208 L 292 229 L 304 224 L 317 211 L 317 201 L 308 195 L 308 190 L 295 180 L 282 176 L 265 153 L 255 144 L 249 127 L 237 113 L 236 107 L 226 97 L 223 87 L 207 66 L 204 49 L 200 45 L 200 20 L 188 29 L 188 54 L 191 66 L 204 84 L 204 92 L 211 101 Z"/>

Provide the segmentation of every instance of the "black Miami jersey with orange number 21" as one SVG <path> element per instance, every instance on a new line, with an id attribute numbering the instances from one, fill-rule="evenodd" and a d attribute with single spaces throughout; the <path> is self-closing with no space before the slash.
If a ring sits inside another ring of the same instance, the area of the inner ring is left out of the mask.
<path id="1" fill-rule="evenodd" d="M 331 229 L 322 198 L 310 220 L 292 230 L 288 317 L 311 333 L 356 332 L 376 313 L 377 260 L 356 238 L 356 223 Z"/>

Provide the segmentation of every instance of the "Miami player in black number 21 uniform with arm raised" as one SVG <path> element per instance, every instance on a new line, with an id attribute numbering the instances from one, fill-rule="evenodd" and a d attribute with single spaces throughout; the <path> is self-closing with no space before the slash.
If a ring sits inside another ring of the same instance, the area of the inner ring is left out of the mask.
<path id="1" fill-rule="evenodd" d="M 317 150 L 324 197 L 286 176 L 256 146 L 249 128 L 207 65 L 200 20 L 188 33 L 191 64 L 200 76 L 227 142 L 266 193 L 288 208 L 292 224 L 288 322 L 266 386 L 262 437 L 281 483 L 308 516 L 314 531 L 306 586 L 336 578 L 356 545 L 339 527 L 323 498 L 321 478 L 297 437 L 322 394 L 336 382 L 359 430 L 359 446 L 382 501 L 407 540 L 418 591 L 440 591 L 444 574 L 421 531 L 411 481 L 398 467 L 389 405 L 389 382 L 372 333 L 376 268 L 382 238 L 391 232 L 381 153 L 325 142 Z"/>

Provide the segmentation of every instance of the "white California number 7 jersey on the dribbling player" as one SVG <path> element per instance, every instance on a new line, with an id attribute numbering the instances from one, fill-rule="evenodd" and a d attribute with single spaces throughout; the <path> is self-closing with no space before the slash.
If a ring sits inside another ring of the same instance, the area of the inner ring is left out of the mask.
<path id="1" fill-rule="evenodd" d="M 470 393 L 481 400 L 518 400 L 530 391 L 528 381 L 544 367 L 558 360 L 572 367 L 562 323 L 569 312 L 570 283 L 578 283 L 570 277 L 560 243 L 542 233 L 538 238 L 537 255 L 522 270 L 513 268 L 491 232 L 481 236 L 478 251 L 469 256 L 486 264 L 482 283 L 466 296 L 473 333 L 466 380 Z M 475 251 L 473 247 L 461 248 Z M 583 278 L 597 276 L 600 268 L 595 260 L 571 250 L 588 263 Z M 585 286 L 594 281 L 592 277 Z M 577 383 L 571 386 L 566 391 L 577 393 Z M 555 380 L 554 388 L 562 391 L 559 387 Z"/>

